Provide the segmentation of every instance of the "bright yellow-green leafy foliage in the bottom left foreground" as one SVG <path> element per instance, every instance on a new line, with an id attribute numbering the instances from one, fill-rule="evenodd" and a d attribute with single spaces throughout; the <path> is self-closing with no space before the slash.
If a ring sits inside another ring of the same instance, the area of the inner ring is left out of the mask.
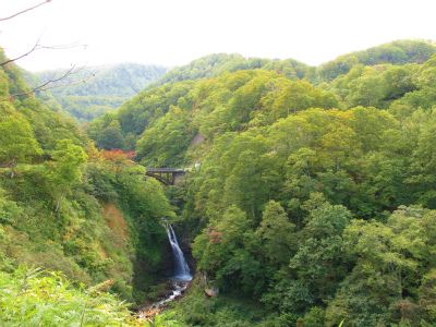
<path id="1" fill-rule="evenodd" d="M 101 290 L 108 280 L 88 289 L 72 289 L 60 272 L 39 269 L 0 272 L 3 326 L 133 326 L 125 304 Z"/>

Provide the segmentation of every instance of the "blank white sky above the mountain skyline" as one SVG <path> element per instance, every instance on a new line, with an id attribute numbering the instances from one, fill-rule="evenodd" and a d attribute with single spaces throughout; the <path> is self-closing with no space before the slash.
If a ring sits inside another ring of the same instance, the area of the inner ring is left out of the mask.
<path id="1" fill-rule="evenodd" d="M 44 0 L 0 0 L 0 17 Z M 0 22 L 9 58 L 29 71 L 117 62 L 183 65 L 202 56 L 292 58 L 318 65 L 395 39 L 436 39 L 434 0 L 51 0 Z"/>

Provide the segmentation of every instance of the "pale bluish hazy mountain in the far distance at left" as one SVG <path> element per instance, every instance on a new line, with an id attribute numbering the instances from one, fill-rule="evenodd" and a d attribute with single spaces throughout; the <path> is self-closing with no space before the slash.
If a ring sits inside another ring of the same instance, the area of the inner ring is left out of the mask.
<path id="1" fill-rule="evenodd" d="M 137 63 L 73 69 L 72 74 L 55 84 L 57 87 L 36 96 L 46 100 L 51 110 L 64 111 L 78 124 L 84 124 L 114 110 L 168 70 Z M 24 77 L 29 85 L 40 85 L 65 73 L 68 71 L 25 72 Z"/>

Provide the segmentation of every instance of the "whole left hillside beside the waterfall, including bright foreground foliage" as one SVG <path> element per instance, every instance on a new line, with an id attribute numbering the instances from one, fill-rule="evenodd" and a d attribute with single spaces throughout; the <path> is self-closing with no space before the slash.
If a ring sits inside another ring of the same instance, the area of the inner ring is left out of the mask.
<path id="1" fill-rule="evenodd" d="M 0 68 L 0 325 L 140 326 L 125 306 L 168 266 L 162 186 L 40 99 L 10 98 L 28 92 Z"/>

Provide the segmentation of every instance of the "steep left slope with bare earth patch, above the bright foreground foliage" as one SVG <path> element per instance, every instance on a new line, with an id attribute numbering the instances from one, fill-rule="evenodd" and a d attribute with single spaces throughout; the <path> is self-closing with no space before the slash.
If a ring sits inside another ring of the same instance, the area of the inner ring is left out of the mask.
<path id="1" fill-rule="evenodd" d="M 2 98 L 28 90 L 14 63 L 0 68 Z M 140 303 L 171 217 L 162 186 L 126 155 L 99 152 L 32 95 L 0 101 L 0 270 L 62 271 L 77 288 L 111 279 L 111 292 Z"/>

